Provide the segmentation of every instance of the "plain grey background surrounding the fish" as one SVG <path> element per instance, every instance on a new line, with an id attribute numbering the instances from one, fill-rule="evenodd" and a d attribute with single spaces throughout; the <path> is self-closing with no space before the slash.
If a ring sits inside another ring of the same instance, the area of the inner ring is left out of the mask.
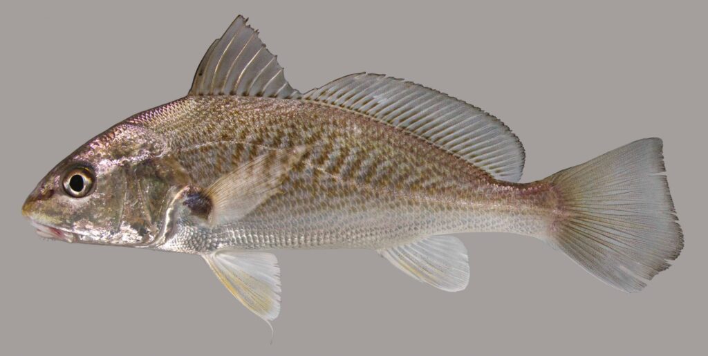
<path id="1" fill-rule="evenodd" d="M 1 5 L 0 353 L 701 353 L 707 8 L 462 2 Z M 239 13 L 302 91 L 372 71 L 497 115 L 526 148 L 525 182 L 663 138 L 682 255 L 643 292 L 623 294 L 541 241 L 464 236 L 472 277 L 450 294 L 371 251 L 282 251 L 282 313 L 269 345 L 268 326 L 201 258 L 38 238 L 20 214 L 38 180 L 94 134 L 185 95 L 203 52 Z"/>

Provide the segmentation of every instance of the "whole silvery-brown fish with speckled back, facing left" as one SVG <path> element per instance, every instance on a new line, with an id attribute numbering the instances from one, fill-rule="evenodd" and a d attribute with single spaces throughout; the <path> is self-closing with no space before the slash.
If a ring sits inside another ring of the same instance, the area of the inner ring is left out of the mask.
<path id="1" fill-rule="evenodd" d="M 360 248 L 448 292 L 469 284 L 455 236 L 510 232 L 639 292 L 683 248 L 661 139 L 519 183 L 525 150 L 480 108 L 426 86 L 357 73 L 300 92 L 238 16 L 187 96 L 81 145 L 22 214 L 69 243 L 199 255 L 270 324 L 280 249 Z"/>

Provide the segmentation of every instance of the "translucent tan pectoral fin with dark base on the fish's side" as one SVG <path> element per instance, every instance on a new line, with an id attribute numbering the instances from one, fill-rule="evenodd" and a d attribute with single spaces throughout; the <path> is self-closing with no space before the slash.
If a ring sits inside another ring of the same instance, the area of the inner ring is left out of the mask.
<path id="1" fill-rule="evenodd" d="M 278 193 L 278 187 L 304 152 L 304 147 L 295 147 L 258 156 L 219 178 L 206 190 L 191 193 L 184 205 L 210 225 L 241 219 Z"/>

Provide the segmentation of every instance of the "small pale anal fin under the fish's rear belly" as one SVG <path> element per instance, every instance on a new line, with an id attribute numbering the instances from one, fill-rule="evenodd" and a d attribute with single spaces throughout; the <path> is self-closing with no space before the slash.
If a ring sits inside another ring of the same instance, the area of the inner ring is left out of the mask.
<path id="1" fill-rule="evenodd" d="M 469 282 L 467 248 L 455 236 L 430 236 L 378 252 L 406 275 L 447 292 L 458 292 Z"/>

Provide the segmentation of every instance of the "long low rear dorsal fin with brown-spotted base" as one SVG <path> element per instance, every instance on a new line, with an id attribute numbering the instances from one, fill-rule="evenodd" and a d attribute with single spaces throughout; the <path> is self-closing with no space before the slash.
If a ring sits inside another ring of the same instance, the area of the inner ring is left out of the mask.
<path id="1" fill-rule="evenodd" d="M 518 137 L 479 108 L 410 81 L 382 74 L 350 74 L 304 94 L 398 127 L 483 169 L 518 182 L 524 149 Z"/>

